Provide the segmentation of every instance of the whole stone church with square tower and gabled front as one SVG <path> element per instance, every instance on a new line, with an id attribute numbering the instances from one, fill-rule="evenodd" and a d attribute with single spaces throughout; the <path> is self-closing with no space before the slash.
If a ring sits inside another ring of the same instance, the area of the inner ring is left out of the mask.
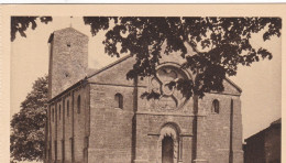
<path id="1" fill-rule="evenodd" d="M 155 76 L 128 80 L 134 57 L 90 73 L 88 36 L 73 28 L 48 45 L 46 163 L 243 162 L 241 89 L 230 79 L 197 104 L 165 85 L 191 77 L 178 55 L 164 55 Z M 141 98 L 150 90 L 163 96 Z"/>

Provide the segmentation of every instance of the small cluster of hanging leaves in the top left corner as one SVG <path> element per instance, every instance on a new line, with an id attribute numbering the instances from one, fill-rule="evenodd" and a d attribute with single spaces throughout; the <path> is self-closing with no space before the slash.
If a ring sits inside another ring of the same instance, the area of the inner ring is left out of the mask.
<path id="1" fill-rule="evenodd" d="M 53 19 L 52 17 L 11 17 L 11 41 L 15 40 L 15 35 L 19 32 L 21 36 L 26 37 L 25 31 L 32 25 L 32 30 L 35 30 L 37 24 L 36 20 L 40 19 L 42 23 L 47 24 Z"/>

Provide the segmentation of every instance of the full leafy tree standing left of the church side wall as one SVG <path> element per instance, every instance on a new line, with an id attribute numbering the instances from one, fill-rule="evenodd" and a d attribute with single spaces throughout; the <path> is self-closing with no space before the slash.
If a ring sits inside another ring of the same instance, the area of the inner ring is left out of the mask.
<path id="1" fill-rule="evenodd" d="M 41 161 L 47 105 L 47 76 L 33 84 L 32 91 L 11 120 L 10 154 L 13 161 Z"/>

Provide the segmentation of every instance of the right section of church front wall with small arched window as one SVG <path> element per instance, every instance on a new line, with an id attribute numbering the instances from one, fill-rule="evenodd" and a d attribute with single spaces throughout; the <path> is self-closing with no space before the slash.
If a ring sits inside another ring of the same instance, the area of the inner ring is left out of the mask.
<path id="1" fill-rule="evenodd" d="M 212 110 L 215 99 L 219 101 L 219 113 Z M 231 100 L 233 101 L 232 124 Z M 199 109 L 202 118 L 199 119 L 201 129 L 199 129 L 198 137 L 200 138 L 198 139 L 202 140 L 200 140 L 201 144 L 198 144 L 201 151 L 198 152 L 201 153 L 202 159 L 209 162 L 229 162 L 232 149 L 233 163 L 242 163 L 242 121 L 239 96 L 207 94 L 202 100 L 199 100 Z"/>

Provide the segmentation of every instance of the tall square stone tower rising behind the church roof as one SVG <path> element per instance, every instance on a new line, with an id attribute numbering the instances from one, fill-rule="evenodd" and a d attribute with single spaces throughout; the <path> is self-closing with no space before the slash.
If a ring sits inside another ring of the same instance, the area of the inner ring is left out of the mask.
<path id="1" fill-rule="evenodd" d="M 48 39 L 48 98 L 87 76 L 88 36 L 73 28 L 55 31 Z"/>

